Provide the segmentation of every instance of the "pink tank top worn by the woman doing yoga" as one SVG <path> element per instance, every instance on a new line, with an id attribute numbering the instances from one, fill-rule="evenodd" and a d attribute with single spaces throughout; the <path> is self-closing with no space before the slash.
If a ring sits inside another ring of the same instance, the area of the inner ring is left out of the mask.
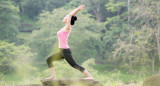
<path id="1" fill-rule="evenodd" d="M 58 40 L 59 40 L 59 48 L 68 49 L 68 37 L 71 30 L 66 32 L 65 30 L 61 29 L 57 32 Z"/>

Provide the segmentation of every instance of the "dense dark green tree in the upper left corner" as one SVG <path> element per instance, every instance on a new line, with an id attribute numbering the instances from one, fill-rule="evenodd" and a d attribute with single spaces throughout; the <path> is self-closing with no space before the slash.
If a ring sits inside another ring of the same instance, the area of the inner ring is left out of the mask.
<path id="1" fill-rule="evenodd" d="M 11 0 L 0 1 L 0 40 L 16 41 L 18 35 L 18 8 Z"/>

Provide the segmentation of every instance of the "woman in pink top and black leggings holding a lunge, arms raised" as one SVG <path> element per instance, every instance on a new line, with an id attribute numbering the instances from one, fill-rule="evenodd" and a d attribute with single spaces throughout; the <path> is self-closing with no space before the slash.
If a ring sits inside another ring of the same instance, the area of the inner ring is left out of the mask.
<path id="1" fill-rule="evenodd" d="M 66 23 L 66 25 L 57 32 L 58 40 L 59 40 L 59 48 L 60 52 L 53 54 L 49 58 L 47 58 L 47 64 L 49 66 L 51 76 L 48 78 L 45 78 L 45 80 L 56 80 L 56 75 L 55 75 L 55 70 L 53 66 L 53 61 L 60 60 L 60 59 L 65 59 L 73 68 L 81 71 L 84 73 L 87 77 L 83 78 L 85 80 L 91 79 L 93 80 L 94 78 L 92 75 L 83 67 L 78 65 L 75 60 L 72 57 L 71 50 L 68 46 L 68 37 L 71 32 L 72 26 L 74 25 L 75 21 L 77 20 L 77 17 L 75 14 L 78 11 L 81 11 L 85 5 L 80 5 L 78 8 L 73 10 L 71 13 L 69 13 L 66 17 L 64 17 L 63 22 Z"/>

